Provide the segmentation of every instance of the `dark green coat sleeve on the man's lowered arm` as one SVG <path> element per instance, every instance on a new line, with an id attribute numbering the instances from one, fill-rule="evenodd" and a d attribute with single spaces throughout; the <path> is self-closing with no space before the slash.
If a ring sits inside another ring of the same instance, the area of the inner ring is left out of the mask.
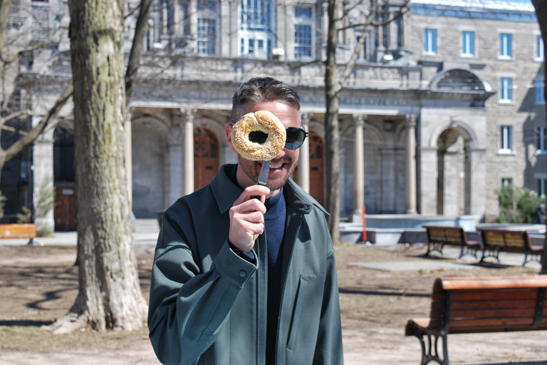
<path id="1" fill-rule="evenodd" d="M 342 346 L 342 324 L 340 322 L 340 299 L 338 297 L 338 276 L 334 249 L 328 237 L 328 254 L 326 260 L 325 290 L 317 336 L 314 365 L 344 364 Z"/>

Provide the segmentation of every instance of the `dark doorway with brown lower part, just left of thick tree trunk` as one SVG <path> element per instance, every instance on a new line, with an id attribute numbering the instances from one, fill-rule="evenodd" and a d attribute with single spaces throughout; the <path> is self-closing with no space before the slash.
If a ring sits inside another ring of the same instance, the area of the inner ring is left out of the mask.
<path id="1" fill-rule="evenodd" d="M 76 230 L 76 188 L 74 173 L 74 125 L 68 120 L 58 123 L 53 132 L 53 185 L 56 231 Z"/>

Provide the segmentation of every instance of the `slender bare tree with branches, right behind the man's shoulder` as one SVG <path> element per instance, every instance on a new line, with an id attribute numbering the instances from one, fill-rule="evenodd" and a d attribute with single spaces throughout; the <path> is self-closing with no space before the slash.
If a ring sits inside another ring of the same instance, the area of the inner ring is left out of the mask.
<path id="1" fill-rule="evenodd" d="M 390 1 L 382 1 L 382 9 L 388 9 Z M 327 35 L 327 60 L 325 62 L 325 155 L 327 176 L 327 197 L 325 207 L 330 212 L 328 226 L 333 242 L 340 240 L 338 221 L 340 220 L 340 132 L 338 123 L 338 110 L 340 91 L 345 81 L 355 67 L 360 49 L 365 43 L 365 36 L 361 36 L 353 47 L 350 58 L 345 65 L 340 65 L 336 60 L 338 37 L 340 31 L 345 29 L 360 29 L 363 35 L 370 26 L 385 26 L 407 12 L 410 0 L 398 1 L 398 10 L 386 13 L 386 16 L 378 17 L 380 7 L 378 0 L 358 1 L 355 3 L 343 0 L 328 0 L 328 35 Z M 357 12 L 355 22 L 346 22 L 348 14 Z M 380 20 L 377 20 L 380 19 Z"/>

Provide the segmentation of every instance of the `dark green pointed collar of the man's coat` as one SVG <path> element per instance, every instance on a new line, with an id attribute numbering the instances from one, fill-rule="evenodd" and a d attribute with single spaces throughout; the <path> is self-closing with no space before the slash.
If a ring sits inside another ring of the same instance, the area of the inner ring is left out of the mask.
<path id="1" fill-rule="evenodd" d="M 243 191 L 240 187 L 234 185 L 234 183 L 232 183 L 228 178 L 228 174 L 235 167 L 236 165 L 233 164 L 222 165 L 219 173 L 217 173 L 211 181 L 211 189 L 215 200 L 217 200 L 217 205 L 219 206 L 221 214 L 227 212 L 234 205 L 234 202 Z M 284 190 L 287 197 L 287 205 L 292 210 L 301 214 L 308 214 L 311 212 L 311 207 L 313 205 L 325 214 L 328 214 L 325 208 L 321 207 L 321 205 L 316 202 L 313 197 L 308 195 L 308 193 L 302 190 L 301 187 L 296 185 L 293 180 L 288 179 Z"/>

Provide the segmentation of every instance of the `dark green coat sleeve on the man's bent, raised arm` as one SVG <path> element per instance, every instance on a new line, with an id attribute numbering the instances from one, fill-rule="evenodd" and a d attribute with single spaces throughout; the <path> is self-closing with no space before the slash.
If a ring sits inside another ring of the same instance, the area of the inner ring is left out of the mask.
<path id="1" fill-rule="evenodd" d="M 162 364 L 195 364 L 222 331 L 239 292 L 256 271 L 255 264 L 224 242 L 210 269 L 202 272 L 187 240 L 195 235 L 182 231 L 167 210 L 152 267 L 148 312 L 150 341 Z"/>

